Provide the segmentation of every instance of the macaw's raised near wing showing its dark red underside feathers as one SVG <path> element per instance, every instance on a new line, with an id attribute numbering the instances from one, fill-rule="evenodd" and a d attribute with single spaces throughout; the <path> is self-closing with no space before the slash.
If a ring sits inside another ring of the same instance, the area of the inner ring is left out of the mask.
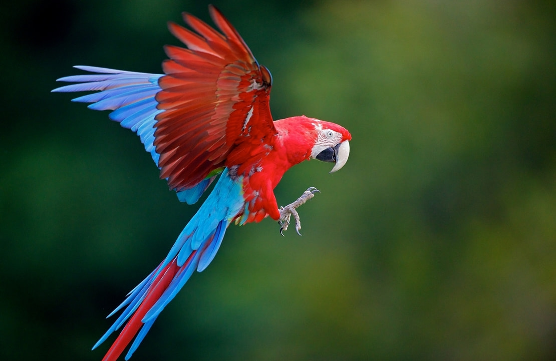
<path id="1" fill-rule="evenodd" d="M 191 14 L 196 32 L 170 23 L 188 49 L 166 46 L 166 76 L 158 81 L 155 147 L 161 178 L 171 189 L 193 187 L 225 166 L 251 161 L 276 129 L 269 108 L 270 72 L 260 66 L 215 7 L 210 14 L 224 35 Z M 262 157 L 262 156 L 261 156 Z"/>

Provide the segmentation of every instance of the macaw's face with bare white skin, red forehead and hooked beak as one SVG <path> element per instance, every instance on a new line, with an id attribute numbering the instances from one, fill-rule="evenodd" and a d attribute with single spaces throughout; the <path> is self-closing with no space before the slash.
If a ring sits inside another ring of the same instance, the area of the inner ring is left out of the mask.
<path id="1" fill-rule="evenodd" d="M 335 123 L 314 119 L 316 132 L 315 144 L 311 149 L 311 158 L 322 162 L 336 163 L 330 173 L 344 167 L 349 157 L 351 134 L 344 127 Z"/>

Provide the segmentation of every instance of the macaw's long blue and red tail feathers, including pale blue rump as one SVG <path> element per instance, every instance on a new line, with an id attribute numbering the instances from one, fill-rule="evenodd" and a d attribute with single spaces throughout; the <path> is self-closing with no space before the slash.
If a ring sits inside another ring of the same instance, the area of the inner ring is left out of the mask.
<path id="1" fill-rule="evenodd" d="M 176 296 L 193 271 L 201 272 L 210 264 L 222 243 L 226 228 L 238 214 L 244 212 L 244 208 L 241 179 L 232 180 L 226 169 L 205 203 L 179 235 L 166 259 L 108 315 L 110 317 L 123 309 L 93 349 L 112 332 L 125 326 L 103 361 L 115 361 L 135 337 L 125 359 L 131 357 L 158 314 Z"/>

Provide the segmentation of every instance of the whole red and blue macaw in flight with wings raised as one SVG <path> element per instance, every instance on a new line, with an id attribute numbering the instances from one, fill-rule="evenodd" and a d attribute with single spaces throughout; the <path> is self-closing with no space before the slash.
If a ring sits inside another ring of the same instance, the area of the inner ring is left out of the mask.
<path id="1" fill-rule="evenodd" d="M 299 233 L 296 208 L 318 190 L 311 187 L 279 208 L 274 188 L 287 169 L 314 158 L 334 162 L 331 172 L 336 172 L 349 156 L 351 134 L 337 124 L 305 116 L 273 121 L 269 69 L 257 63 L 218 9 L 210 6 L 209 11 L 222 33 L 188 13 L 183 20 L 191 30 L 168 23 L 187 48 L 165 46 L 165 74 L 76 66 L 94 74 L 59 78 L 75 84 L 53 90 L 100 91 L 73 101 L 110 109 L 112 121 L 137 133 L 160 178 L 182 202 L 197 202 L 220 176 L 166 258 L 108 315 L 123 310 L 93 349 L 125 326 L 103 361 L 116 360 L 135 337 L 125 359 L 131 357 L 193 271 L 211 263 L 231 223 L 270 216 L 282 233 L 293 217 Z"/>

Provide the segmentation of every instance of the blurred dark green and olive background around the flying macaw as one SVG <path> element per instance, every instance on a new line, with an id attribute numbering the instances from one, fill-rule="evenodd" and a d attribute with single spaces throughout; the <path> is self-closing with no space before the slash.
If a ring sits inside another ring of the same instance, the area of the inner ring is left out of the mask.
<path id="1" fill-rule="evenodd" d="M 231 227 L 132 360 L 555 360 L 553 1 L 214 1 L 274 76 L 275 118 L 353 134 L 303 237 Z M 136 136 L 51 94 L 87 64 L 160 72 L 185 0 L 0 9 L 0 359 L 100 360 L 104 317 L 197 206 Z"/>

